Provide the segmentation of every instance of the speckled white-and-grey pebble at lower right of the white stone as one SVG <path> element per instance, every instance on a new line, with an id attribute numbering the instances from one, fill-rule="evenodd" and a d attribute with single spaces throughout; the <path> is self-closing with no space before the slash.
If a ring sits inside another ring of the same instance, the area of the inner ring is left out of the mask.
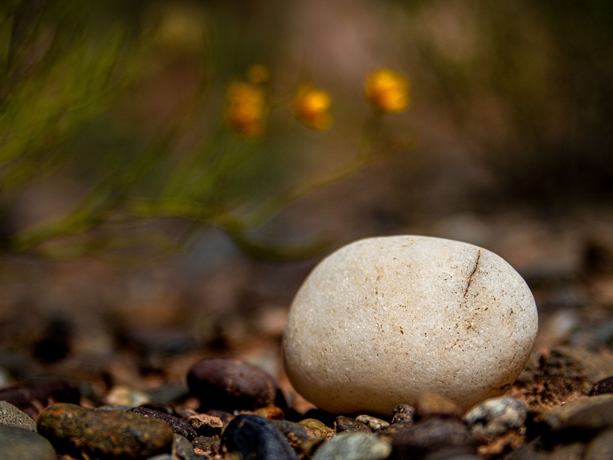
<path id="1" fill-rule="evenodd" d="M 464 421 L 474 434 L 490 439 L 522 427 L 528 412 L 523 402 L 502 396 L 487 399 L 471 408 Z"/>

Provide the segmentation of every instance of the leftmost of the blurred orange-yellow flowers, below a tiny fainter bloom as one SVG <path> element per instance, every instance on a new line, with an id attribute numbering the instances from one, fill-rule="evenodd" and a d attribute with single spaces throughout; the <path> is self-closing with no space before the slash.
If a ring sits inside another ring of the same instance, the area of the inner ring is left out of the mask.
<path id="1" fill-rule="evenodd" d="M 226 91 L 226 117 L 234 131 L 246 137 L 264 132 L 266 102 L 264 90 L 246 82 L 230 83 Z"/>

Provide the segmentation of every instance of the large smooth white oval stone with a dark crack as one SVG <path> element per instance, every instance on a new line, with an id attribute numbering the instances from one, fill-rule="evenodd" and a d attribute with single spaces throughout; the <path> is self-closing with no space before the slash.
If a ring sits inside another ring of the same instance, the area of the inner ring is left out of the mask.
<path id="1" fill-rule="evenodd" d="M 500 256 L 439 238 L 376 237 L 308 275 L 283 361 L 296 391 L 333 413 L 390 416 L 426 390 L 468 409 L 512 385 L 537 330 L 530 289 Z"/>

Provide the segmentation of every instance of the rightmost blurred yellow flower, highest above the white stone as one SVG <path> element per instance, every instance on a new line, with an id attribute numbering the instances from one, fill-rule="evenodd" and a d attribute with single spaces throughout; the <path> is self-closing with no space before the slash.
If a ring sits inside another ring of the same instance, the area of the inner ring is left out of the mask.
<path id="1" fill-rule="evenodd" d="M 364 91 L 373 109 L 384 113 L 398 113 L 411 105 L 409 80 L 392 69 L 379 69 L 366 79 Z"/>

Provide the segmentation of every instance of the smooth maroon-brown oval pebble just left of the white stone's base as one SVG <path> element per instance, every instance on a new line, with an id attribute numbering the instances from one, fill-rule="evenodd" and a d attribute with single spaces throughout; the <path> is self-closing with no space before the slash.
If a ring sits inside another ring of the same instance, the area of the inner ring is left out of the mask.
<path id="1" fill-rule="evenodd" d="M 203 359 L 189 369 L 188 386 L 202 408 L 253 410 L 275 405 L 286 407 L 272 375 L 238 359 Z"/>

